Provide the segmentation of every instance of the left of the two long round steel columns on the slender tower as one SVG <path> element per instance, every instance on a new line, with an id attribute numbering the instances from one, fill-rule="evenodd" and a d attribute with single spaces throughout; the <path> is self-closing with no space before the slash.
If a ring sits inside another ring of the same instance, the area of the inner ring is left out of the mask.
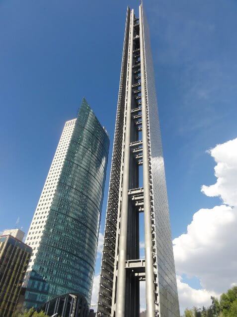
<path id="1" fill-rule="evenodd" d="M 125 290 L 126 290 L 126 269 L 127 260 L 127 231 L 128 231 L 128 189 L 130 178 L 130 142 L 131 142 L 131 103 L 132 103 L 132 79 L 133 79 L 133 29 L 134 10 L 131 11 L 130 40 L 129 40 L 129 63 L 127 83 L 127 109 L 126 109 L 126 131 L 124 145 L 124 167 L 122 183 L 121 222 L 119 236 L 119 258 L 118 258 L 118 279 L 116 296 L 116 317 L 125 317 Z"/>

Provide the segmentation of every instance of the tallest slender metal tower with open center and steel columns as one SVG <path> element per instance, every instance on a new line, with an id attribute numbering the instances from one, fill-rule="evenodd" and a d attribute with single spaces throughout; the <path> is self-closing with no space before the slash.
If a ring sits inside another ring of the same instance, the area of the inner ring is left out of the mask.
<path id="1" fill-rule="evenodd" d="M 140 167 L 142 166 L 142 167 Z M 145 259 L 140 259 L 139 213 Z M 149 27 L 128 8 L 116 116 L 97 316 L 179 317 Z"/>

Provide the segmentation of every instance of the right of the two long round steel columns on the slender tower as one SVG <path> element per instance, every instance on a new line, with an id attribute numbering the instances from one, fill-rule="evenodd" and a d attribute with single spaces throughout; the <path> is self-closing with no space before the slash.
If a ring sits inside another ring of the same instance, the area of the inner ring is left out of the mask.
<path id="1" fill-rule="evenodd" d="M 145 60 L 144 60 L 144 33 L 143 33 L 143 8 L 139 6 L 140 21 L 140 58 L 141 58 L 141 85 L 142 85 L 142 129 L 143 129 L 143 187 L 144 187 L 144 226 L 145 226 L 145 259 L 146 259 L 146 303 L 147 317 L 155 316 L 155 288 L 154 268 L 152 256 L 152 221 L 151 197 L 149 184 L 149 158 L 147 134 L 147 105 L 145 88 Z"/>

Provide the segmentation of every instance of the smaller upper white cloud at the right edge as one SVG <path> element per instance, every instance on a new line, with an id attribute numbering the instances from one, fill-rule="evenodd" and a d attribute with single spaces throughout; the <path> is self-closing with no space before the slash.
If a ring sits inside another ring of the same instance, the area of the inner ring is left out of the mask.
<path id="1" fill-rule="evenodd" d="M 207 196 L 220 196 L 224 203 L 237 206 L 237 139 L 217 145 L 209 151 L 217 162 L 214 185 L 202 186 Z"/>

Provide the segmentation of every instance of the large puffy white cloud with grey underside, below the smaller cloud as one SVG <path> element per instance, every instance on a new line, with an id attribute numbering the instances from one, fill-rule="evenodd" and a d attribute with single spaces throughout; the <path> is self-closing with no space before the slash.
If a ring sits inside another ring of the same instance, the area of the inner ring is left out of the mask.
<path id="1" fill-rule="evenodd" d="M 187 233 L 173 240 L 176 270 L 198 276 L 202 287 L 221 293 L 237 277 L 237 209 L 215 206 L 193 215 Z"/>

